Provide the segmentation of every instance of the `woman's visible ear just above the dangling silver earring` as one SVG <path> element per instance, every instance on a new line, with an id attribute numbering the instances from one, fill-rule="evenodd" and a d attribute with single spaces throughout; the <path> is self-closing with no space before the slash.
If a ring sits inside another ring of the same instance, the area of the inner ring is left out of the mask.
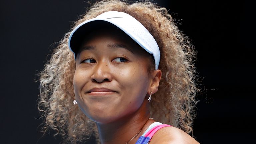
<path id="1" fill-rule="evenodd" d="M 152 92 L 152 94 L 156 93 L 159 87 L 159 83 L 162 77 L 162 71 L 161 70 L 155 70 L 154 72 L 152 72 L 151 74 L 152 79 L 149 85 L 149 89 L 148 92 L 150 94 L 150 92 Z"/>

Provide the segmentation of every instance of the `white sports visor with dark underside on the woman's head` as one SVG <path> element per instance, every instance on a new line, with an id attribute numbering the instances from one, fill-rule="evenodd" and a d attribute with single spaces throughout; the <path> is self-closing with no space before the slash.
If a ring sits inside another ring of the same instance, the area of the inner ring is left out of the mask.
<path id="1" fill-rule="evenodd" d="M 153 54 L 155 60 L 155 70 L 158 69 L 160 61 L 160 51 L 154 37 L 139 21 L 123 12 L 104 12 L 98 15 L 96 18 L 89 19 L 79 24 L 77 27 L 75 27 L 75 29 L 71 32 L 69 36 L 68 46 L 70 50 L 74 54 L 77 52 L 77 44 L 81 44 L 82 35 L 85 35 L 85 33 L 87 33 L 86 31 L 88 30 L 87 27 L 90 27 L 89 25 L 98 25 L 99 27 L 104 27 L 105 24 L 101 24 L 102 22 L 108 22 L 117 26 L 148 53 Z"/>

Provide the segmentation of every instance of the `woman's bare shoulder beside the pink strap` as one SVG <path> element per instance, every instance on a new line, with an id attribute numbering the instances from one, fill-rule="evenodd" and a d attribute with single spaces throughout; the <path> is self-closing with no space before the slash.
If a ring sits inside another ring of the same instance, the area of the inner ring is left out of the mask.
<path id="1" fill-rule="evenodd" d="M 194 138 L 176 127 L 159 129 L 150 144 L 199 144 Z"/>

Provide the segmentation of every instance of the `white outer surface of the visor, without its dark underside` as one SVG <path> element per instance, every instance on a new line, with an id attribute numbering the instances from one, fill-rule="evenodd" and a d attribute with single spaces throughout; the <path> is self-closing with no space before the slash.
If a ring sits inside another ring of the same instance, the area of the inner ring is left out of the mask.
<path id="1" fill-rule="evenodd" d="M 89 23 L 91 21 L 96 21 L 96 20 L 110 22 L 115 26 L 117 26 L 118 28 L 120 28 L 121 30 L 123 30 L 142 48 L 144 48 L 150 54 L 153 54 L 153 57 L 155 59 L 155 70 L 158 69 L 158 65 L 160 61 L 160 51 L 154 37 L 139 21 L 137 21 L 132 16 L 123 12 L 108 11 L 108 12 L 102 13 L 101 15 L 98 15 L 96 18 L 89 19 L 79 24 L 77 27 L 75 27 L 75 29 L 71 32 L 69 36 L 68 45 L 71 51 L 72 51 L 72 48 L 70 47 L 70 41 L 75 31 L 82 25 Z"/>

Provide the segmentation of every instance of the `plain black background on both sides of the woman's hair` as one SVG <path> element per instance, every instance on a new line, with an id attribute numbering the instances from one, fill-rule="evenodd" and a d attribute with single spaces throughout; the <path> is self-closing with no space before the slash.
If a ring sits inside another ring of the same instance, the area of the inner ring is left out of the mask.
<path id="1" fill-rule="evenodd" d="M 202 93 L 193 125 L 198 142 L 255 140 L 256 51 L 249 22 L 255 17 L 249 16 L 253 8 L 241 1 L 156 2 L 179 20 L 179 29 L 198 52 L 195 63 Z M 87 6 L 86 0 L 1 0 L 1 144 L 61 142 L 54 133 L 40 138 L 35 74 Z"/>

